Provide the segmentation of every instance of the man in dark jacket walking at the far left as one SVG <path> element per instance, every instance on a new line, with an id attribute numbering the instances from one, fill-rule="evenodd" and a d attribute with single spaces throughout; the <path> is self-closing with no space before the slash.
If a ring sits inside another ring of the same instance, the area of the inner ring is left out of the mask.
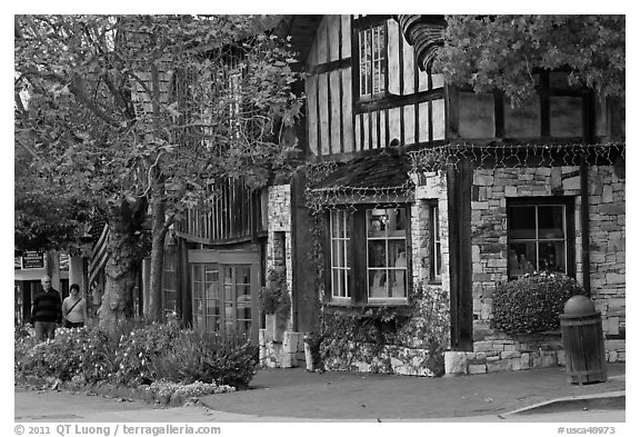
<path id="1" fill-rule="evenodd" d="M 42 288 L 33 297 L 31 321 L 36 328 L 36 339 L 53 339 L 56 325 L 62 321 L 62 300 L 60 294 L 51 287 L 51 278 L 44 275 L 40 280 Z"/>

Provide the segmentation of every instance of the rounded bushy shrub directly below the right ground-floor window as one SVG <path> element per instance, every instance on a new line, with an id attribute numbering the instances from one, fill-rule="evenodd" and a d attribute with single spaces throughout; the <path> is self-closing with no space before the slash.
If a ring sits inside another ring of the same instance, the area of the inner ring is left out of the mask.
<path id="1" fill-rule="evenodd" d="M 493 291 L 493 325 L 510 334 L 536 334 L 560 327 L 564 302 L 584 290 L 561 274 L 533 274 L 500 284 Z"/>

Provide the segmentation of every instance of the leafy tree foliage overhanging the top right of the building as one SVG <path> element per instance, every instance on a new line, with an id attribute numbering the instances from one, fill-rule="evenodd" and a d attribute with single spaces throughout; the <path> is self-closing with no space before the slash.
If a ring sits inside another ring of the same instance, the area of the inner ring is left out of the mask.
<path id="1" fill-rule="evenodd" d="M 519 105 L 539 69 L 568 70 L 571 83 L 624 97 L 624 16 L 447 16 L 434 69 L 474 91 L 501 90 Z"/>

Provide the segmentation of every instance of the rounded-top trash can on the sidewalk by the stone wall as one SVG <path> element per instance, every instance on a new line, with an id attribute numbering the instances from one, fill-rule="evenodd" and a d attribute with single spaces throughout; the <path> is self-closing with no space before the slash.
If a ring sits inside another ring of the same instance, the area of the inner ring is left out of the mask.
<path id="1" fill-rule="evenodd" d="M 578 295 L 567 300 L 564 314 L 560 316 L 560 329 L 569 383 L 582 385 L 606 381 L 602 320 L 591 299 Z"/>

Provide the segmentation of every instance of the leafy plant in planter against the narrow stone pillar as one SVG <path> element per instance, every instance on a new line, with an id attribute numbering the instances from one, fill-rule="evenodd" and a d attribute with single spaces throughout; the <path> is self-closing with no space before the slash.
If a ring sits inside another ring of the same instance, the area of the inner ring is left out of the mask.
<path id="1" fill-rule="evenodd" d="M 283 268 L 272 268 L 267 274 L 267 286 L 260 289 L 260 310 L 266 315 L 268 341 L 282 341 L 290 309 L 287 271 Z"/>

